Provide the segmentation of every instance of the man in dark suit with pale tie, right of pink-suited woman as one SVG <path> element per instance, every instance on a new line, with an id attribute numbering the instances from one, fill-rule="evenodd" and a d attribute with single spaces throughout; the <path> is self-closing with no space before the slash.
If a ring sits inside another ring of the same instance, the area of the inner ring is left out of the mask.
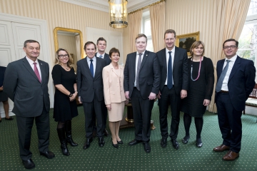
<path id="1" fill-rule="evenodd" d="M 124 68 L 124 90 L 131 98 L 135 139 L 129 145 L 143 142 L 145 152 L 151 152 L 150 125 L 151 110 L 159 90 L 160 68 L 156 53 L 146 51 L 147 38 L 144 34 L 136 37 L 136 52 L 129 53 Z"/>

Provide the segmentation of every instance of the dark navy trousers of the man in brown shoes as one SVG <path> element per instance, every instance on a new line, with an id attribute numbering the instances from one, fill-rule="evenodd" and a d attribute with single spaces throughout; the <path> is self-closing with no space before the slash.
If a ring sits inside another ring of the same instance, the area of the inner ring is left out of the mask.
<path id="1" fill-rule="evenodd" d="M 223 145 L 230 146 L 230 150 L 233 152 L 239 152 L 242 139 L 242 111 L 233 108 L 229 93 L 217 93 L 216 106 Z"/>

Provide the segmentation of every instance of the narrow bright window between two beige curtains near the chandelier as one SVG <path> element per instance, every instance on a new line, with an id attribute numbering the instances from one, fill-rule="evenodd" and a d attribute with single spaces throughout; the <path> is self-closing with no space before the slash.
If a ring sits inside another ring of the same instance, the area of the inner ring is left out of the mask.
<path id="1" fill-rule="evenodd" d="M 152 41 L 152 37 L 151 37 L 150 11 L 143 12 L 141 33 L 144 33 L 147 36 L 146 50 L 153 51 L 153 41 Z"/>

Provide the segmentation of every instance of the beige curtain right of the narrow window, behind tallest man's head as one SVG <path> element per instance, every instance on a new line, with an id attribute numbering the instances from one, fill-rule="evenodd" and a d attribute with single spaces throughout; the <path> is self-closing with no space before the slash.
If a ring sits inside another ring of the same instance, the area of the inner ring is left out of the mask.
<path id="1" fill-rule="evenodd" d="M 164 48 L 163 34 L 165 31 L 165 1 L 150 6 L 151 36 L 153 51 L 157 52 Z"/>

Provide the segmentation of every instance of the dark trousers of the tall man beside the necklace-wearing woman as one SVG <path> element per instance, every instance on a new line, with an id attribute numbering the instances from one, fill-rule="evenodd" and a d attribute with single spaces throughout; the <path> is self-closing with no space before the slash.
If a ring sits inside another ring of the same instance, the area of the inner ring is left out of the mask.
<path id="1" fill-rule="evenodd" d="M 168 138 L 168 105 L 171 105 L 171 139 L 176 139 L 178 136 L 178 125 L 180 120 L 181 95 L 176 95 L 175 88 L 168 89 L 164 86 L 161 90 L 161 98 L 158 100 L 159 105 L 159 120 L 161 127 L 161 136 Z"/>

